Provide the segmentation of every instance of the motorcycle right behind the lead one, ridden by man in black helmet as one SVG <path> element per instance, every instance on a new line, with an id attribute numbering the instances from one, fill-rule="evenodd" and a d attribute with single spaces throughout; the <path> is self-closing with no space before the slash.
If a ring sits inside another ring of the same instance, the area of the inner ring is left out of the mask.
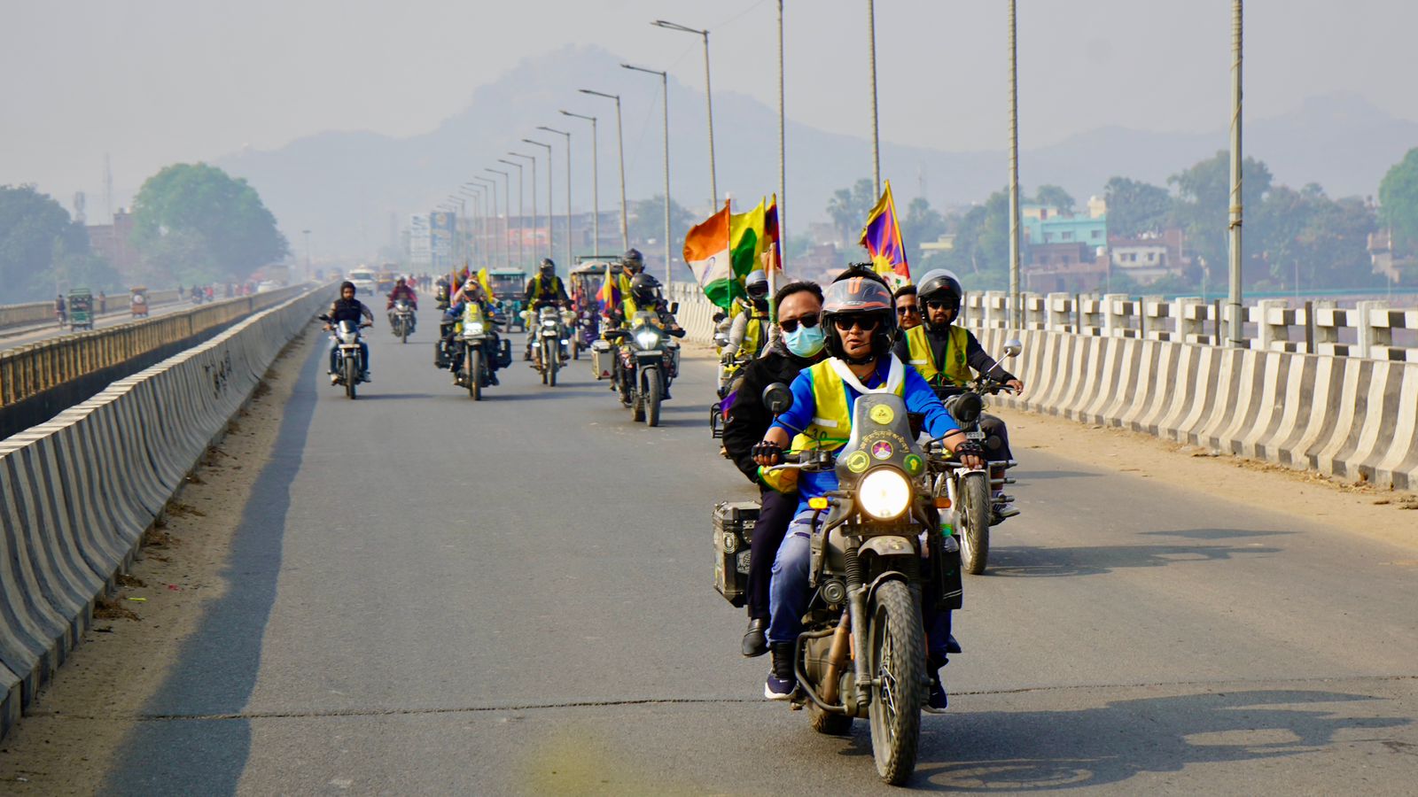
<path id="1" fill-rule="evenodd" d="M 1004 343 L 1004 355 L 1007 357 L 1015 357 L 1022 350 L 1024 345 L 1018 340 L 1007 340 Z M 990 526 L 995 526 L 1007 518 L 1020 513 L 1014 506 L 995 511 L 997 501 L 1005 505 L 1012 501 L 1011 496 L 1003 494 L 997 499 L 995 494 L 1005 485 L 1014 484 L 1014 479 L 1005 476 L 1005 471 L 1018 462 L 1014 459 L 990 458 L 990 452 L 1000 448 L 1000 441 L 991 440 L 980 428 L 980 416 L 986 407 L 984 396 L 1010 393 L 1010 386 L 991 377 L 990 373 L 984 373 L 964 389 L 937 386 L 936 393 L 942 394 L 946 411 L 960 424 L 960 430 L 966 433 L 966 438 L 980 442 L 986 450 L 986 468 L 966 468 L 950 457 L 939 442 L 933 442 L 926 451 L 932 492 L 947 499 L 951 506 L 957 508 L 956 522 L 964 572 L 978 576 L 984 573 L 990 562 Z"/>

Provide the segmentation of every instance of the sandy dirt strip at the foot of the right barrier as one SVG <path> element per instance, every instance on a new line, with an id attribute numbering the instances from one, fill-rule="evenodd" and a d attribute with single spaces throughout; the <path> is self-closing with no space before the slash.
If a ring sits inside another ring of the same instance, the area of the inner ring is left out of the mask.
<path id="1" fill-rule="evenodd" d="M 1242 501 L 1306 520 L 1343 519 L 1344 530 L 1418 547 L 1418 495 L 1350 484 L 1313 471 L 1217 454 L 1151 435 L 1054 416 L 991 407 L 1010 425 L 1017 452 L 1029 448 L 1081 464 Z"/>

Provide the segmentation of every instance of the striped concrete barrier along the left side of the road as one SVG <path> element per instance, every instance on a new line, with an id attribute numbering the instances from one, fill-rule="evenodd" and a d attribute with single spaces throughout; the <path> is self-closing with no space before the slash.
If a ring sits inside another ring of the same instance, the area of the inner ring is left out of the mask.
<path id="1" fill-rule="evenodd" d="M 0 441 L 0 736 L 92 621 L 183 478 L 329 286 L 115 381 Z"/>

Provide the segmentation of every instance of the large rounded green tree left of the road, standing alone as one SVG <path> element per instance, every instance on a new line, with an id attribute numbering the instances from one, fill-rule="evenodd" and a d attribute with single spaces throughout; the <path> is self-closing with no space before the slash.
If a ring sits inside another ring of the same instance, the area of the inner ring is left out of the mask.
<path id="1" fill-rule="evenodd" d="M 180 234 L 182 241 L 164 241 Z M 177 163 L 149 177 L 133 199 L 133 244 L 150 269 L 172 282 L 245 278 L 285 258 L 291 247 L 275 217 L 245 180 L 206 163 Z M 173 251 L 206 257 L 170 260 Z"/>

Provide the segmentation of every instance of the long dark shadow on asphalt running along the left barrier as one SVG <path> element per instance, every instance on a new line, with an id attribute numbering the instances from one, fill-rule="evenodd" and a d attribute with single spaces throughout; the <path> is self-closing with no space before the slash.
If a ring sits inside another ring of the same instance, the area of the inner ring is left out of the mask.
<path id="1" fill-rule="evenodd" d="M 214 719 L 245 709 L 261 665 L 261 642 L 275 604 L 291 484 L 315 414 L 325 352 L 312 347 L 284 407 L 275 455 L 261 471 L 231 540 L 221 576 L 227 593 L 213 603 L 173 671 L 115 756 L 105 794 L 234 794 L 251 753 L 247 719 Z M 363 401 L 363 398 L 360 398 Z"/>

